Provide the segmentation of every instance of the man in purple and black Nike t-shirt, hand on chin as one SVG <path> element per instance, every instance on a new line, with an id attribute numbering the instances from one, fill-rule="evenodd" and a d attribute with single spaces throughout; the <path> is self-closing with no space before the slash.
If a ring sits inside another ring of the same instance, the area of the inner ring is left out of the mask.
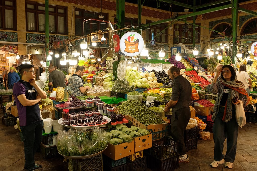
<path id="1" fill-rule="evenodd" d="M 19 113 L 20 128 L 24 136 L 24 170 L 34 171 L 41 168 L 35 164 L 34 155 L 40 146 L 43 134 L 43 118 L 38 102 L 47 98 L 46 93 L 36 84 L 34 65 L 19 66 L 21 80 L 13 86 L 13 94 Z"/>

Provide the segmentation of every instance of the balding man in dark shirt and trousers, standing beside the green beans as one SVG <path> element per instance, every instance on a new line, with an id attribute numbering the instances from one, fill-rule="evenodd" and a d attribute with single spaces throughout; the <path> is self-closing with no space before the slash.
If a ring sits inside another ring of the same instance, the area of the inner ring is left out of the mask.
<path id="1" fill-rule="evenodd" d="M 192 94 L 192 86 L 190 82 L 182 77 L 180 69 L 172 66 L 168 70 L 168 75 L 172 80 L 172 97 L 165 105 L 165 112 L 172 108 L 171 116 L 171 136 L 175 141 L 179 141 L 179 163 L 189 162 L 189 157 L 186 154 L 184 141 L 184 131 L 190 119 L 190 101 Z"/>

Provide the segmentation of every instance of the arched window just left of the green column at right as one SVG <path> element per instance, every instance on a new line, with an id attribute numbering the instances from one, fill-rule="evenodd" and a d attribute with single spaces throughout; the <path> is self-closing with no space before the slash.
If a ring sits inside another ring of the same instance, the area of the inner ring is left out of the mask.
<path id="1" fill-rule="evenodd" d="M 225 36 L 231 36 L 231 34 L 232 34 L 232 27 L 231 27 L 230 24 L 227 24 L 227 23 L 219 24 L 216 27 L 214 27 L 213 30 L 221 32 Z M 212 31 L 211 34 L 210 34 L 210 38 L 222 37 L 223 35 L 218 33 L 218 32 Z"/>

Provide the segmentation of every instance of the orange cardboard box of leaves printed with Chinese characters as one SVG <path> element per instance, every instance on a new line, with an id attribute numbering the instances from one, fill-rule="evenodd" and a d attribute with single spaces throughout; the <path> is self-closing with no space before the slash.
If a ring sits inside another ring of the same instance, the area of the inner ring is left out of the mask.
<path id="1" fill-rule="evenodd" d="M 134 141 L 130 143 L 124 142 L 119 145 L 112 145 L 109 143 L 107 148 L 103 152 L 104 155 L 110 157 L 113 160 L 118 160 L 134 153 Z"/>

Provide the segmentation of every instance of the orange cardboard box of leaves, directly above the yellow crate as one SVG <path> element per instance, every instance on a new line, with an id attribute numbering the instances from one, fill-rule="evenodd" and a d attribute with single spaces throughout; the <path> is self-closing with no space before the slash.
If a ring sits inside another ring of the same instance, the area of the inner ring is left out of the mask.
<path id="1" fill-rule="evenodd" d="M 145 150 L 152 147 L 152 134 L 135 137 L 135 152 Z"/>

